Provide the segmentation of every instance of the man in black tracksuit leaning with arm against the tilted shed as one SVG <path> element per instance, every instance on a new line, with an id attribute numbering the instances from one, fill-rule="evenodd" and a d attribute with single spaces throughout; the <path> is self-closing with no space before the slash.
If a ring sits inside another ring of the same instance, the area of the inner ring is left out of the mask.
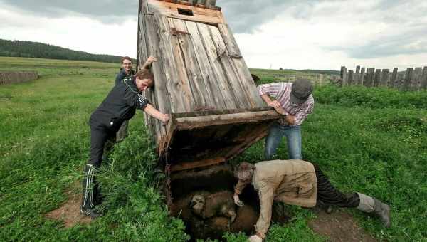
<path id="1" fill-rule="evenodd" d="M 142 91 L 153 85 L 152 73 L 147 69 L 139 70 L 135 77 L 125 78 L 122 82 L 117 83 L 90 116 L 90 157 L 88 164 L 85 165 L 81 214 L 91 218 L 101 215 L 94 209 L 94 206 L 100 203 L 99 184 L 97 184 L 94 174 L 96 169 L 101 166 L 102 154 L 114 144 L 116 132 L 122 122 L 130 120 L 137 109 L 162 120 L 162 122 L 169 120 L 169 115 L 156 110 L 142 95 Z"/>

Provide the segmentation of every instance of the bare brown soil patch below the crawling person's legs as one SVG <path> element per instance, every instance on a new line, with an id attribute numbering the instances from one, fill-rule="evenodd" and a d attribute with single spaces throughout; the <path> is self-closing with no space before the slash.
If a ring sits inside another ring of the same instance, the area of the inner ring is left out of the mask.
<path id="1" fill-rule="evenodd" d="M 332 214 L 327 214 L 321 209 L 315 209 L 317 218 L 308 223 L 315 233 L 329 238 L 335 242 L 376 242 L 360 228 L 354 221 L 351 214 L 345 211 L 336 210 Z"/>

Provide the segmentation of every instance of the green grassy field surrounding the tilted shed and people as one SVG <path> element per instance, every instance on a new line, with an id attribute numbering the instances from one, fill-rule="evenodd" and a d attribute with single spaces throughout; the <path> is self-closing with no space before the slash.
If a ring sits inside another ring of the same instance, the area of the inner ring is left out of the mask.
<path id="1" fill-rule="evenodd" d="M 185 241 L 184 224 L 167 216 L 156 157 L 138 113 L 100 179 L 107 213 L 64 228 L 44 214 L 67 200 L 88 159 L 90 113 L 112 88 L 119 66 L 84 61 L 0 58 L 0 70 L 37 70 L 31 83 L 0 86 L 0 241 Z M 263 83 L 293 71 L 254 70 Z M 302 73 L 301 75 L 306 75 Z M 309 73 L 312 74 L 312 73 Z M 299 75 L 299 73 L 297 73 Z M 302 125 L 305 159 L 320 164 L 343 191 L 391 204 L 391 228 L 350 210 L 381 241 L 427 241 L 427 92 L 379 88 L 315 90 L 315 112 Z M 278 158 L 287 159 L 286 145 Z M 258 142 L 232 162 L 263 160 Z M 290 206 L 292 221 L 273 225 L 268 241 L 324 241 Z M 226 234 L 245 241 L 243 234 Z"/>

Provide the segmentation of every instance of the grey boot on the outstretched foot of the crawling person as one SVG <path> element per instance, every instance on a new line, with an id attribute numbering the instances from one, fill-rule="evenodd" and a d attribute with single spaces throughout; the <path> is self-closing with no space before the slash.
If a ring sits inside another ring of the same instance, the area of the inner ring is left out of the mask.
<path id="1" fill-rule="evenodd" d="M 360 203 L 359 206 L 357 206 L 357 209 L 367 213 L 376 214 L 381 219 L 383 225 L 386 228 L 389 228 L 391 223 L 390 206 L 371 196 L 360 193 L 357 193 L 357 195 L 360 199 Z"/>

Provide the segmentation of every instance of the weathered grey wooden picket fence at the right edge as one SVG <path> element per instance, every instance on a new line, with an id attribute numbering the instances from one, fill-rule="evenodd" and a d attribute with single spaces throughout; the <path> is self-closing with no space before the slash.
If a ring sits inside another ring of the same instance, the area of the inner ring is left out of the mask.
<path id="1" fill-rule="evenodd" d="M 342 85 L 364 85 L 367 87 L 388 87 L 399 90 L 423 90 L 427 88 L 427 66 L 408 68 L 399 72 L 398 68 L 375 69 L 356 67 L 356 72 L 341 67 L 339 83 Z"/>

